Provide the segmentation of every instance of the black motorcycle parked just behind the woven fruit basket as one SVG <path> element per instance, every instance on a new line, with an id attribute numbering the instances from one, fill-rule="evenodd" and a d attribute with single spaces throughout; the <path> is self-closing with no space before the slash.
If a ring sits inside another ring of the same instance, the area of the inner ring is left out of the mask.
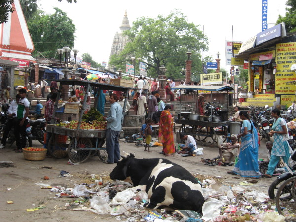
<path id="1" fill-rule="evenodd" d="M 46 133 L 45 127 L 45 119 L 29 120 L 26 129 L 28 137 L 44 144 L 44 134 Z"/>

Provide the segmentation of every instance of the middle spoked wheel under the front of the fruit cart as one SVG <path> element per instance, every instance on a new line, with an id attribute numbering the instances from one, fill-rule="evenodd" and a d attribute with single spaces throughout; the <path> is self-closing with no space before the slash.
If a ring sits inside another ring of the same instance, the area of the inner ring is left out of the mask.
<path id="1" fill-rule="evenodd" d="M 74 163 L 83 163 L 91 154 L 92 143 L 89 138 L 73 138 L 68 146 L 69 159 Z"/>

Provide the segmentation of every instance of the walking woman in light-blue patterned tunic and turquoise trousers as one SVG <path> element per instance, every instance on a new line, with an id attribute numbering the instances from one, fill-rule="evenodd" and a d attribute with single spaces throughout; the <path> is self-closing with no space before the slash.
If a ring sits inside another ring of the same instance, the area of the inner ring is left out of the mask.
<path id="1" fill-rule="evenodd" d="M 276 121 L 273 123 L 271 131 L 269 132 L 270 136 L 274 136 L 274 142 L 271 149 L 268 170 L 266 174 L 262 175 L 267 178 L 272 177 L 280 158 L 282 157 L 283 161 L 288 164 L 290 154 L 292 153 L 292 149 L 287 141 L 287 138 L 289 138 L 287 123 L 281 118 L 281 112 L 278 109 L 273 109 L 271 111 L 271 116 L 275 118 Z"/>

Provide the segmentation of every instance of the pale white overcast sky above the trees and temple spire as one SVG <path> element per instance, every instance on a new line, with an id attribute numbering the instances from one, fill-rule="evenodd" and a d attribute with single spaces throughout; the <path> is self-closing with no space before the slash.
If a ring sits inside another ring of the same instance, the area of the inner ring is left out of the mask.
<path id="1" fill-rule="evenodd" d="M 266 0 L 264 0 L 266 1 Z M 78 57 L 89 53 L 101 63 L 108 62 L 115 33 L 120 32 L 125 10 L 130 25 L 140 17 L 156 18 L 180 9 L 188 22 L 200 25 L 209 40 L 209 51 L 213 62 L 220 53 L 220 67 L 225 68 L 225 39 L 245 41 L 261 32 L 262 0 L 40 0 L 39 7 L 53 13 L 58 7 L 67 13 L 76 26 L 75 45 Z M 268 28 L 275 25 L 278 15 L 285 15 L 286 0 L 268 0 Z M 229 67 L 227 66 L 227 69 Z"/>

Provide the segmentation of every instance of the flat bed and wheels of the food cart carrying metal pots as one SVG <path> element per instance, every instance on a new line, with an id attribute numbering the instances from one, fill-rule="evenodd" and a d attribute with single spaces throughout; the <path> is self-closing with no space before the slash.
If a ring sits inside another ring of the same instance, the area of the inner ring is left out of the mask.
<path id="1" fill-rule="evenodd" d="M 200 141 L 202 145 L 211 145 L 217 140 L 217 135 L 222 135 L 224 141 L 227 139 L 228 126 L 230 121 L 226 122 L 207 122 L 196 120 L 176 119 L 176 123 L 182 124 L 179 133 L 184 132 Z M 220 127 L 218 130 L 217 127 Z"/>

